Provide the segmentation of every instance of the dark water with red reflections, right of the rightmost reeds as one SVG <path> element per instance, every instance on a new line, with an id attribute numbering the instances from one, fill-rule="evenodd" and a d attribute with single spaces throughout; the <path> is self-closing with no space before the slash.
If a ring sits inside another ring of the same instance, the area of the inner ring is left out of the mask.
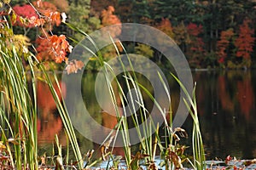
<path id="1" fill-rule="evenodd" d="M 255 157 L 255 73 L 211 71 L 194 76 L 208 158 Z"/>

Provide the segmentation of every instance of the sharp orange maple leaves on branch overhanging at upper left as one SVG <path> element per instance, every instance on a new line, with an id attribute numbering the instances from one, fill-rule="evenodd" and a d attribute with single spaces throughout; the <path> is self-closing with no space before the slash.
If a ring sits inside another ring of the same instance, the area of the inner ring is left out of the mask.
<path id="1" fill-rule="evenodd" d="M 72 47 L 66 40 L 64 35 L 49 36 L 46 32 L 52 30 L 52 26 L 61 25 L 61 14 L 53 3 L 42 2 L 38 0 L 33 2 L 37 8 L 40 18 L 31 20 L 33 26 L 40 26 L 44 36 L 38 37 L 36 40 L 38 59 L 39 60 L 55 60 L 56 63 L 61 63 L 67 60 L 67 52 L 70 53 Z"/>

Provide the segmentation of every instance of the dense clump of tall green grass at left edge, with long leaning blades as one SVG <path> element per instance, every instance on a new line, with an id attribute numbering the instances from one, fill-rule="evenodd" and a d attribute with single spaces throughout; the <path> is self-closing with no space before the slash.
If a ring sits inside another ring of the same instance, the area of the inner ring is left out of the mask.
<path id="1" fill-rule="evenodd" d="M 74 155 L 78 161 L 79 169 L 83 168 L 83 160 L 79 150 L 73 125 L 67 113 L 66 106 L 61 103 L 54 82 L 44 65 L 28 52 L 20 52 L 20 47 L 12 43 L 14 36 L 9 20 L 3 23 L 4 34 L 0 40 L 0 129 L 1 140 L 5 144 L 7 156 L 12 168 L 38 169 L 38 132 L 37 132 L 37 94 L 35 67 L 44 75 L 44 81 L 49 89 L 61 116 L 67 137 L 72 145 Z M 27 76 L 27 74 L 30 74 Z M 54 74 L 55 75 L 55 74 Z"/>

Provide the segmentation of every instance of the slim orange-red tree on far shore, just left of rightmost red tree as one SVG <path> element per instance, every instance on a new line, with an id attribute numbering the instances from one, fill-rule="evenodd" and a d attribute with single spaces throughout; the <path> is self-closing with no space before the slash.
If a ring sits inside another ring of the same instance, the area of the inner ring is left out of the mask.
<path id="1" fill-rule="evenodd" d="M 222 31 L 220 34 L 220 40 L 217 42 L 218 48 L 218 63 L 224 63 L 224 59 L 227 57 L 226 49 L 230 45 L 230 39 L 234 36 L 234 31 L 229 29 L 227 31 Z"/>

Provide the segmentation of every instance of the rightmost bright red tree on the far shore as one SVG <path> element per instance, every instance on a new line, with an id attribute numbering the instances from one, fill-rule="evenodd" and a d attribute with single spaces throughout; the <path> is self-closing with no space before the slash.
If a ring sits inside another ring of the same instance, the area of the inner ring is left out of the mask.
<path id="1" fill-rule="evenodd" d="M 236 57 L 243 57 L 244 59 L 250 59 L 250 54 L 253 52 L 253 37 L 254 30 L 248 25 L 251 20 L 244 20 L 242 25 L 239 26 L 239 37 L 236 38 L 235 46 L 237 48 Z"/>

